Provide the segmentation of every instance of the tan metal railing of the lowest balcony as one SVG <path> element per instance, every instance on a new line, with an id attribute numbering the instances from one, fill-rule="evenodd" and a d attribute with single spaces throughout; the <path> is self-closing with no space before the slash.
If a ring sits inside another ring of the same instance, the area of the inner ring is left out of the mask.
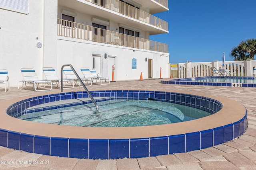
<path id="1" fill-rule="evenodd" d="M 58 35 L 99 43 L 168 53 L 168 44 L 62 19 L 58 19 Z"/>

